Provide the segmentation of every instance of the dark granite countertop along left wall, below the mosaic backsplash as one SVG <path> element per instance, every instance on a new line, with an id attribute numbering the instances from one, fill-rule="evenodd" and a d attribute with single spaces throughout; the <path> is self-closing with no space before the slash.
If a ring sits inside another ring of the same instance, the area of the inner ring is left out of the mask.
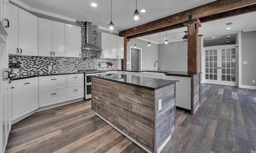
<path id="1" fill-rule="evenodd" d="M 36 73 L 36 74 L 27 74 L 27 75 L 16 75 L 15 77 L 10 77 L 10 82 L 13 80 L 19 80 L 24 78 L 33 78 L 33 77 L 49 76 L 49 75 L 68 75 L 68 74 L 78 74 L 78 73 L 81 73 L 81 72 L 70 71 L 70 72 L 60 72 L 60 73 Z"/>

